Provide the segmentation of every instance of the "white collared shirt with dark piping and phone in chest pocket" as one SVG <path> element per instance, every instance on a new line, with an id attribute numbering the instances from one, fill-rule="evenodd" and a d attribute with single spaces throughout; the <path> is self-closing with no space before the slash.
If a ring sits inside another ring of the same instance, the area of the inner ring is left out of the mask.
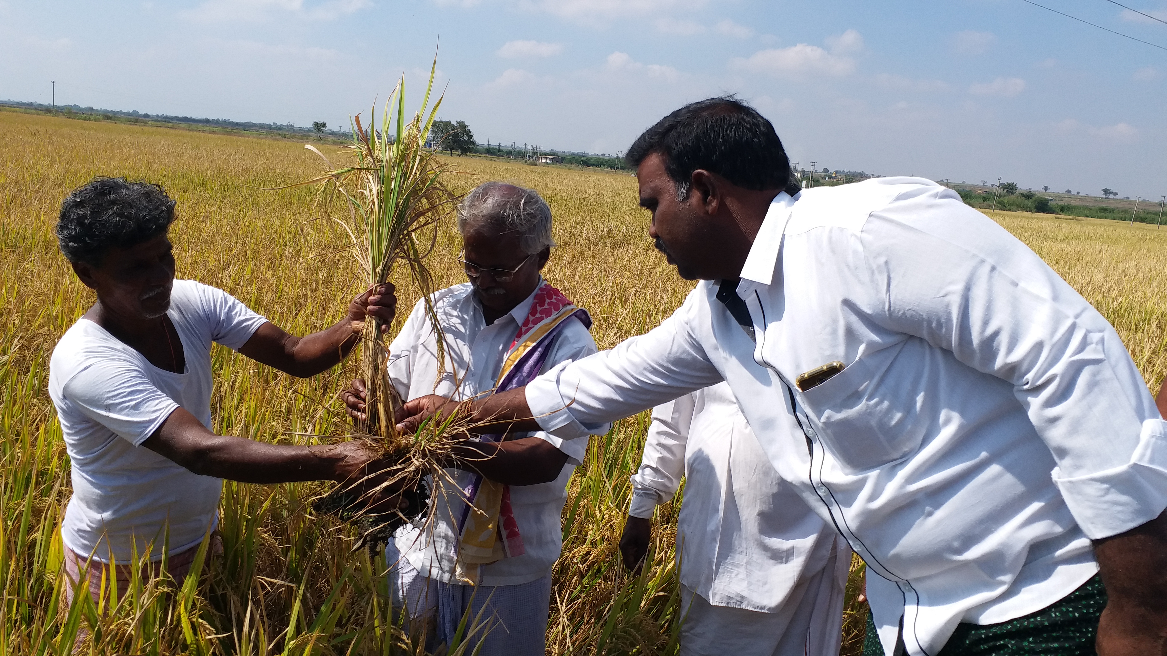
<path id="1" fill-rule="evenodd" d="M 715 293 L 540 377 L 527 403 L 566 437 L 727 381 L 778 474 L 875 574 L 889 652 L 901 616 L 908 651 L 936 654 L 962 621 L 1057 601 L 1097 572 L 1091 538 L 1167 507 L 1167 424 L 1113 328 L 953 191 L 780 194 L 738 287 L 756 344 Z"/>

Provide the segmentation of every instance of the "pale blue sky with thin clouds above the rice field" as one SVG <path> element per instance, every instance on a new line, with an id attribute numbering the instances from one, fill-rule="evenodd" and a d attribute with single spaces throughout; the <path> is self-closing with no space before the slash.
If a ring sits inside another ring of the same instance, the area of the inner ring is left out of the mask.
<path id="1" fill-rule="evenodd" d="M 1040 4 L 1167 47 L 1105 0 Z M 1124 5 L 1167 20 L 1165 0 Z M 738 93 L 804 166 L 1159 200 L 1167 50 L 1021 0 L 0 0 L 0 98 L 349 124 L 434 48 L 480 141 L 612 153 Z"/>

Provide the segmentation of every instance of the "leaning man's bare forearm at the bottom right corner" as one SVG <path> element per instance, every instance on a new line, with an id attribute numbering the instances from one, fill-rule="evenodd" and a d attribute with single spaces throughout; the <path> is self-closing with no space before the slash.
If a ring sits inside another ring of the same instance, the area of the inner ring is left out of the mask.
<path id="1" fill-rule="evenodd" d="M 1098 655 L 1167 655 L 1167 511 L 1093 549 L 1107 596 Z"/>

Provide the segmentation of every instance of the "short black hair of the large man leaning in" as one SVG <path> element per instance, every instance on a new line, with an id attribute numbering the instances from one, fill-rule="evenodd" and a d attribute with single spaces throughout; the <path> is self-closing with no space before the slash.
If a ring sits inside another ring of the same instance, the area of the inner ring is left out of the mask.
<path id="1" fill-rule="evenodd" d="M 699 168 L 745 189 L 798 193 L 774 125 L 732 96 L 690 103 L 658 120 L 636 138 L 624 161 L 636 168 L 652 153 L 664 158 L 665 173 L 682 201 Z"/>

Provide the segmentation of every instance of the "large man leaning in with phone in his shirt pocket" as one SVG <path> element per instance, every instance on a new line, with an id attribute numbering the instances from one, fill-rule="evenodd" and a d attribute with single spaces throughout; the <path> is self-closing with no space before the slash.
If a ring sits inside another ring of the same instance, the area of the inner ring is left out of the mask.
<path id="1" fill-rule="evenodd" d="M 629 161 L 649 235 L 704 280 L 684 306 L 522 390 L 418 399 L 403 427 L 461 412 L 567 439 L 726 381 L 867 563 L 885 652 L 1167 654 L 1167 423 L 1033 251 L 927 180 L 799 191 L 732 99 L 665 117 Z"/>

